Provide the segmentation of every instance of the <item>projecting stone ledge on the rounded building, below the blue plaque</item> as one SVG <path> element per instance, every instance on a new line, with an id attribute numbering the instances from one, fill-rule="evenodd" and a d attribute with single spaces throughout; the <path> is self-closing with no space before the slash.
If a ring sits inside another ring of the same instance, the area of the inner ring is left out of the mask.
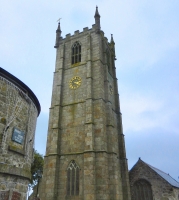
<path id="1" fill-rule="evenodd" d="M 6 163 L 0 163 L 0 173 L 21 176 L 31 180 L 31 172 L 29 170 L 8 165 Z"/>

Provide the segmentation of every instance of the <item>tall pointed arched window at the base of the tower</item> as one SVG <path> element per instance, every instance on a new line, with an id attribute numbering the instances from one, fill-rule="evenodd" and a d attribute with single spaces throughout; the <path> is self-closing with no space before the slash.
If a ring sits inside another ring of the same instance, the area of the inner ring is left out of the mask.
<path id="1" fill-rule="evenodd" d="M 79 166 L 72 160 L 67 168 L 67 195 L 79 195 Z"/>

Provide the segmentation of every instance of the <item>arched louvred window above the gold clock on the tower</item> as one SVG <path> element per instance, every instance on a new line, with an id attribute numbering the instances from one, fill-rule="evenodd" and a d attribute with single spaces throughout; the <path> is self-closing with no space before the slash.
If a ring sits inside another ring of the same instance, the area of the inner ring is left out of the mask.
<path id="1" fill-rule="evenodd" d="M 79 42 L 75 42 L 72 46 L 72 65 L 75 63 L 81 62 L 81 45 Z"/>

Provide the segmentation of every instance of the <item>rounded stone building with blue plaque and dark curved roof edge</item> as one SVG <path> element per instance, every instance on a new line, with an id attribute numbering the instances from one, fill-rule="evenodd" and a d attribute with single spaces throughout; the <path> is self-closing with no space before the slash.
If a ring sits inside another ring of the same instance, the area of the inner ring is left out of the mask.
<path id="1" fill-rule="evenodd" d="M 26 199 L 39 113 L 30 88 L 0 68 L 0 199 Z"/>

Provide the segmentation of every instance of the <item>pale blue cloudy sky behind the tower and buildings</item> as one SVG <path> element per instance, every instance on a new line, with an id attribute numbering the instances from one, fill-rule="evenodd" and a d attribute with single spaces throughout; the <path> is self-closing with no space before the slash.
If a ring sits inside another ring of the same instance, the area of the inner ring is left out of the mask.
<path id="1" fill-rule="evenodd" d="M 62 36 L 94 24 L 116 44 L 116 69 L 129 169 L 138 158 L 179 181 L 179 1 L 0 0 L 0 67 L 41 104 L 35 148 L 45 154 L 56 50 Z"/>

